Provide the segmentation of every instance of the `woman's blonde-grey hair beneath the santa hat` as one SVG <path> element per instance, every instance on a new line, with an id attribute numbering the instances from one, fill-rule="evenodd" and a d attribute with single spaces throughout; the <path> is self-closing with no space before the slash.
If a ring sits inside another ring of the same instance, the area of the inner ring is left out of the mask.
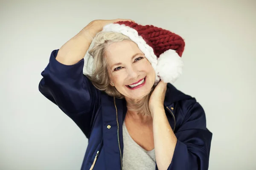
<path id="1" fill-rule="evenodd" d="M 116 98 L 122 99 L 124 96 L 116 90 L 115 87 L 110 85 L 110 78 L 108 75 L 108 63 L 105 59 L 105 54 L 108 45 L 114 42 L 122 41 L 132 41 L 129 37 L 115 32 L 99 32 L 93 39 L 93 47 L 88 51 L 88 53 L 93 56 L 93 66 L 90 71 L 91 74 L 86 74 L 93 85 L 101 90 L 105 91 L 109 96 L 114 96 Z M 89 63 L 89 59 L 87 64 Z M 87 65 L 88 68 L 88 65 Z M 128 108 L 130 111 L 135 111 L 138 114 L 151 115 L 149 111 L 149 98 L 153 91 L 143 97 L 139 102 L 134 102 L 136 108 Z"/>

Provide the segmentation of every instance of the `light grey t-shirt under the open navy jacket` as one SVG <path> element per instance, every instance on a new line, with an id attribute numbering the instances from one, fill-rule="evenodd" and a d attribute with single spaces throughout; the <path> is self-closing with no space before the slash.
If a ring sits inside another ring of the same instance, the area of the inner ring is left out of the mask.
<path id="1" fill-rule="evenodd" d="M 122 157 L 123 170 L 155 170 L 155 151 L 147 151 L 137 144 L 128 133 L 123 123 L 124 153 Z"/>

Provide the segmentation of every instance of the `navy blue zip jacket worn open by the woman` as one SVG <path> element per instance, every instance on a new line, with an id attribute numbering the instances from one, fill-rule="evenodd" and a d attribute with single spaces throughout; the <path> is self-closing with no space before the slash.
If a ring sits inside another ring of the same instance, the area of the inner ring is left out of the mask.
<path id="1" fill-rule="evenodd" d="M 88 138 L 81 170 L 89 170 L 94 160 L 93 170 L 120 170 L 125 99 L 97 90 L 83 74 L 84 59 L 74 65 L 63 65 L 55 59 L 57 53 L 58 50 L 52 51 L 49 64 L 41 73 L 39 91 L 58 105 Z M 207 170 L 212 133 L 207 130 L 201 105 L 167 84 L 164 107 L 177 137 L 168 170 Z"/>

